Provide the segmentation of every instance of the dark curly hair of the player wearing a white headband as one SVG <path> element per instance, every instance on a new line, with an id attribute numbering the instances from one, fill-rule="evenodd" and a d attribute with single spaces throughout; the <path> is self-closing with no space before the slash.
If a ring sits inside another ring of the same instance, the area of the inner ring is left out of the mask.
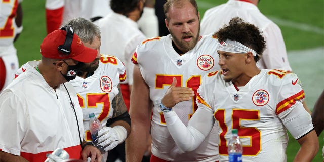
<path id="1" fill-rule="evenodd" d="M 229 39 L 253 49 L 258 53 L 258 55 L 254 57 L 256 62 L 260 60 L 259 55 L 262 55 L 262 52 L 266 48 L 266 42 L 262 36 L 262 31 L 255 25 L 244 22 L 239 17 L 232 18 L 229 24 L 224 25 L 216 31 L 214 36 L 218 38 L 219 42 Z"/>

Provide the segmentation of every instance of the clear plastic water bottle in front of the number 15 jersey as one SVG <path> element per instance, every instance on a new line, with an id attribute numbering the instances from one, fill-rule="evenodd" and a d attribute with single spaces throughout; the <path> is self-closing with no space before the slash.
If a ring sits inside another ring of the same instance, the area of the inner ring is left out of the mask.
<path id="1" fill-rule="evenodd" d="M 232 136 L 228 141 L 228 161 L 242 162 L 243 146 L 238 137 L 237 129 L 232 130 Z"/>

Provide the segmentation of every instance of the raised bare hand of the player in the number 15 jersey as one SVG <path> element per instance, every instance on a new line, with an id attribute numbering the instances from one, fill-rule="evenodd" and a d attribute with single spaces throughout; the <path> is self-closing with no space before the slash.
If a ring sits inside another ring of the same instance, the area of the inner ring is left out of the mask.
<path id="1" fill-rule="evenodd" d="M 165 107 L 172 108 L 181 101 L 191 100 L 194 96 L 194 91 L 188 87 L 176 87 L 177 79 L 174 77 L 173 82 L 168 88 L 166 94 L 161 100 L 161 104 Z"/>

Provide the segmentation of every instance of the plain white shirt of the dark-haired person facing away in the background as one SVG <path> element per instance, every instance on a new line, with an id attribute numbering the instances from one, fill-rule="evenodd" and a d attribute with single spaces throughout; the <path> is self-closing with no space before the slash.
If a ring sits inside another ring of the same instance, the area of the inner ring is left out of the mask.
<path id="1" fill-rule="evenodd" d="M 132 85 L 134 64 L 131 58 L 136 46 L 146 37 L 138 29 L 135 21 L 114 12 L 99 19 L 95 24 L 101 31 L 100 51 L 123 61 L 128 76 L 124 83 Z"/>

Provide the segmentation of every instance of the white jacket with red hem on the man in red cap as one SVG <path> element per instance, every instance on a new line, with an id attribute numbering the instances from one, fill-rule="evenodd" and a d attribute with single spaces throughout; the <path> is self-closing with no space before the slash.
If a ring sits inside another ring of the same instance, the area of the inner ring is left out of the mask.
<path id="1" fill-rule="evenodd" d="M 0 150 L 43 162 L 47 153 L 63 148 L 80 159 L 82 110 L 73 86 L 60 84 L 54 91 L 33 65 L 24 67 L 0 94 Z"/>

